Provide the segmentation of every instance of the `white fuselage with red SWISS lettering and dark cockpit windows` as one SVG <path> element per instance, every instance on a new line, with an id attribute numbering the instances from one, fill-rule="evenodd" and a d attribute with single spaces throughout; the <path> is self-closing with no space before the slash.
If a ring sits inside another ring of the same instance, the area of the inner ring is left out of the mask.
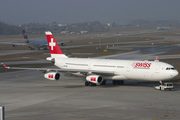
<path id="1" fill-rule="evenodd" d="M 113 72 L 114 75 L 101 75 L 106 80 L 164 81 L 178 75 L 172 65 L 158 61 L 56 58 L 55 65 L 62 69 Z"/>

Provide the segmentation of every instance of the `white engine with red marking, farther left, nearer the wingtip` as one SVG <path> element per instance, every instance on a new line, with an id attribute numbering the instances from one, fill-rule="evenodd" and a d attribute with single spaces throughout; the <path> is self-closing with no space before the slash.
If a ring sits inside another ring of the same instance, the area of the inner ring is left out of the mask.
<path id="1" fill-rule="evenodd" d="M 49 72 L 44 74 L 44 77 L 49 80 L 59 80 L 60 74 L 58 72 Z"/>

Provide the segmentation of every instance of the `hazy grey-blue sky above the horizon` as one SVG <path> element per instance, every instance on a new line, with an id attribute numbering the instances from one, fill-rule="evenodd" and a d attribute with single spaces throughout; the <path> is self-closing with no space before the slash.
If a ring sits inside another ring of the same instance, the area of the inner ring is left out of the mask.
<path id="1" fill-rule="evenodd" d="M 126 24 L 131 20 L 180 21 L 180 0 L 1 0 L 0 21 L 76 23 L 100 21 Z"/>

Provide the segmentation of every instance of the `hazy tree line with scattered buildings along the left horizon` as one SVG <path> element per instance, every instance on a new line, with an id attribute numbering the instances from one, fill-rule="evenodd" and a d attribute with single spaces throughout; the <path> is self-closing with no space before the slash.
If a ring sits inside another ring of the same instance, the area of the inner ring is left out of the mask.
<path id="1" fill-rule="evenodd" d="M 107 27 L 107 25 L 103 25 L 99 21 L 72 24 L 68 23 L 62 25 L 58 24 L 57 22 L 50 24 L 28 23 L 22 25 L 9 25 L 4 22 L 0 22 L 0 35 L 22 34 L 23 29 L 25 29 L 28 34 L 44 34 L 44 31 L 47 30 L 53 33 L 61 33 L 61 31 L 69 31 L 69 33 L 79 33 L 80 31 L 88 31 L 89 33 L 110 31 L 110 28 Z"/>

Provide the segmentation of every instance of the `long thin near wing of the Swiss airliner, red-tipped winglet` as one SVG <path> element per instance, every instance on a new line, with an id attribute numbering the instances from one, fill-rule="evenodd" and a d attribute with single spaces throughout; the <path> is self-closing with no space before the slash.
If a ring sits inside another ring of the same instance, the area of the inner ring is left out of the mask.
<path id="1" fill-rule="evenodd" d="M 20 68 L 20 67 L 9 67 L 3 63 L 1 63 L 5 68 L 7 69 L 21 69 L 21 70 L 37 70 L 42 72 L 68 72 L 68 73 L 84 73 L 84 74 L 97 74 L 97 75 L 105 75 L 105 76 L 112 76 L 115 75 L 115 72 L 113 71 L 100 71 L 100 70 L 83 70 L 83 69 L 50 69 L 50 68 Z"/>

